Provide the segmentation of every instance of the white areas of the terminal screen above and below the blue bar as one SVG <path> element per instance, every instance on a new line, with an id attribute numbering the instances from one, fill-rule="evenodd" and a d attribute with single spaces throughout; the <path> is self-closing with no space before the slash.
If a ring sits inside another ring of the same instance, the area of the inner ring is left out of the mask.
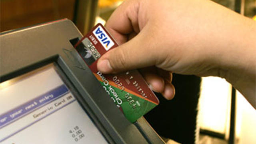
<path id="1" fill-rule="evenodd" d="M 16 80 L 14 84 L 0 89 L 0 115 L 64 84 L 54 70 L 53 64 L 41 69 L 39 72 Z M 0 128 L 0 143 L 106 144 L 107 142 L 102 134 L 75 98 L 70 104 L 66 103 L 66 106 L 64 106 L 65 103 L 63 103 L 62 108 L 55 108 L 55 112 L 50 113 L 51 111 L 49 111 L 40 115 L 39 118 L 33 118 L 34 114 L 42 112 L 47 107 L 54 107 L 54 104 L 61 102 L 62 99 L 68 96 L 74 98 L 72 93 L 68 92 L 61 98 Z M 76 134 L 76 132 L 79 134 Z M 82 137 L 81 134 L 83 134 Z"/>

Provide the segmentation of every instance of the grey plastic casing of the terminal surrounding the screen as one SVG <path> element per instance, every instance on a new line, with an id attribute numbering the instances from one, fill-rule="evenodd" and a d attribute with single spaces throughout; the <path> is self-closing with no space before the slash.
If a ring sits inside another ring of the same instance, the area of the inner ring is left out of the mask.
<path id="1" fill-rule="evenodd" d="M 70 43 L 74 38 L 82 34 L 68 19 L 1 33 L 0 81 L 54 63 L 109 143 L 164 144 L 143 117 L 134 124 L 124 117 Z"/>

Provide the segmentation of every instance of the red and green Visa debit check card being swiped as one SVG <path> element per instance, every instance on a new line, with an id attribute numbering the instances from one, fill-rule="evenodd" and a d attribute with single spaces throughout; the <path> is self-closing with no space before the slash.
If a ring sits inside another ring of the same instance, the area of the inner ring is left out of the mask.
<path id="1" fill-rule="evenodd" d="M 98 79 L 106 93 L 130 121 L 135 122 L 159 104 L 159 100 L 137 70 L 102 74 L 97 61 L 118 44 L 102 24 L 97 24 L 74 48 Z"/>

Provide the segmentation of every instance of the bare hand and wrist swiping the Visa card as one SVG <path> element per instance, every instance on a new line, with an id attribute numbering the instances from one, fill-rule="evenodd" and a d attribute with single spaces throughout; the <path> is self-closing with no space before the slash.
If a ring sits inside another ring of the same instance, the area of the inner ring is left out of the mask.
<path id="1" fill-rule="evenodd" d="M 255 102 L 256 26 L 248 18 L 210 0 L 127 0 L 106 28 L 120 46 L 98 60 L 103 73 L 143 68 L 167 99 L 175 93 L 170 72 L 220 76 Z"/>

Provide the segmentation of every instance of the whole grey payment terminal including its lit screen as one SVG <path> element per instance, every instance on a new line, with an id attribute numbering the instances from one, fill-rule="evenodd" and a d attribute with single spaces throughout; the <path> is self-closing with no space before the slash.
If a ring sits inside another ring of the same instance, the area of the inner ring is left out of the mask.
<path id="1" fill-rule="evenodd" d="M 164 144 L 129 122 L 74 49 L 67 19 L 0 35 L 1 144 Z"/>

